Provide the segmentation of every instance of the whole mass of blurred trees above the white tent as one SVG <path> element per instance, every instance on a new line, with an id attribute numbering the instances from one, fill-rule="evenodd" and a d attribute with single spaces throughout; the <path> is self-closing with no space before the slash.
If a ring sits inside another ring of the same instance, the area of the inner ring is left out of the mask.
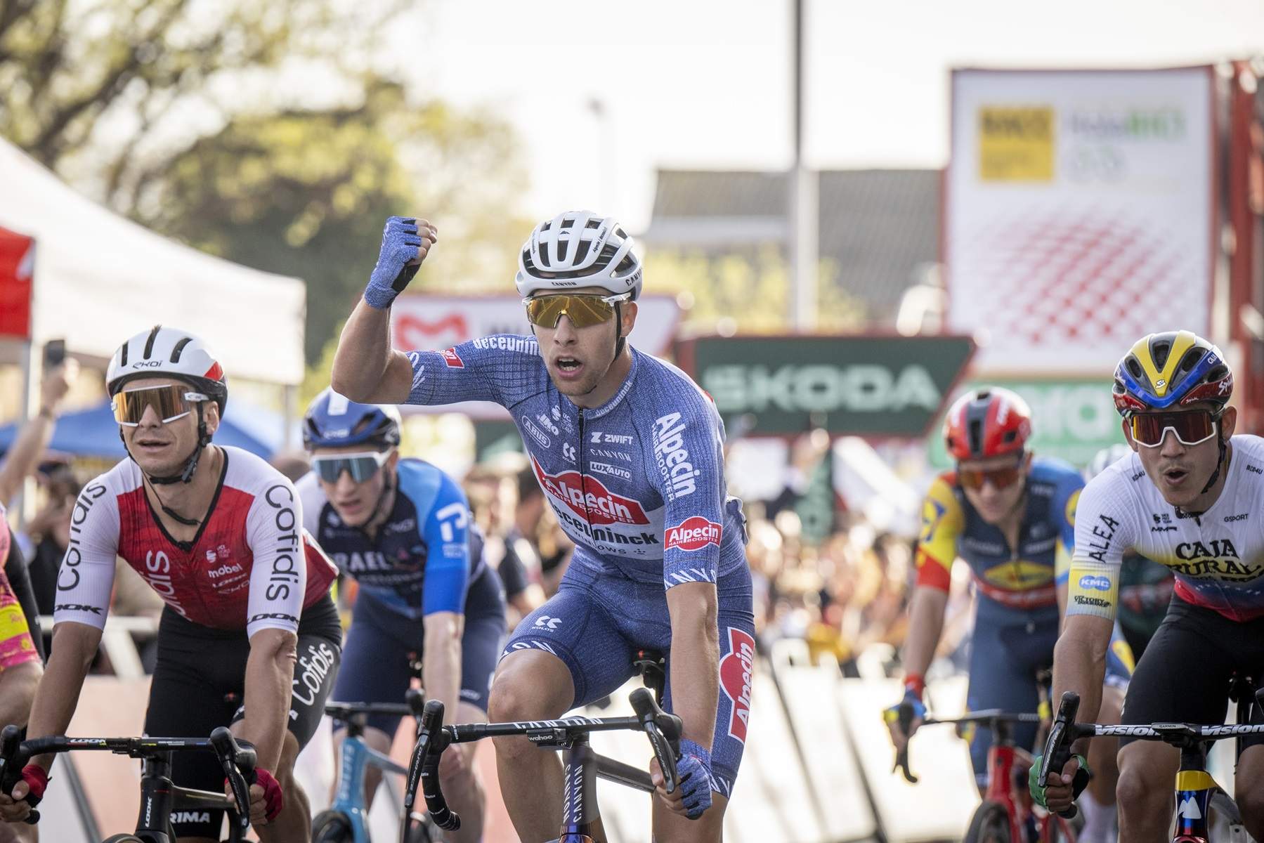
<path id="1" fill-rule="evenodd" d="M 303 278 L 316 364 L 388 215 L 439 226 L 413 284 L 455 292 L 503 289 L 530 227 L 508 126 L 373 59 L 415 5 L 0 0 L 0 134 L 162 234 Z"/>

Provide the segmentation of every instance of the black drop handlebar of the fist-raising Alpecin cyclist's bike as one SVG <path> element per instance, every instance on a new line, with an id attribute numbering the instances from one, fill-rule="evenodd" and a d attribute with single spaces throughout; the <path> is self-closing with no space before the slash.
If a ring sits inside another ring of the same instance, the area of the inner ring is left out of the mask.
<path id="1" fill-rule="evenodd" d="M 417 727 L 417 746 L 413 747 L 408 763 L 408 782 L 404 791 L 404 814 L 412 811 L 417 798 L 418 784 L 426 800 L 430 819 L 444 830 L 456 830 L 461 825 L 460 815 L 447 808 L 447 800 L 439 785 L 439 761 L 444 751 L 454 743 L 469 743 L 483 738 L 503 738 L 526 736 L 538 746 L 566 746 L 570 739 L 592 732 L 612 732 L 627 729 L 645 732 L 653 747 L 655 758 L 662 771 L 664 786 L 670 794 L 680 784 L 676 780 L 676 760 L 680 758 L 680 736 L 683 725 L 675 714 L 667 714 L 655 701 L 645 688 L 638 688 L 629 695 L 636 717 L 588 718 L 573 717 L 561 720 L 531 720 L 525 723 L 471 723 L 468 725 L 444 725 L 444 704 L 439 700 L 426 703 Z"/>

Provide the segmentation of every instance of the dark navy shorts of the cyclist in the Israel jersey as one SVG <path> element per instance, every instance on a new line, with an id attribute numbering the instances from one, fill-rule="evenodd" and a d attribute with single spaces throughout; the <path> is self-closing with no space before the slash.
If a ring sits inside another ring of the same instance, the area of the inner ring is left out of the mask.
<path id="1" fill-rule="evenodd" d="M 461 701 L 483 712 L 487 712 L 504 632 L 501 579 L 485 567 L 469 585 L 461 634 Z M 421 619 L 404 617 L 362 591 L 355 599 L 351 628 L 346 631 L 334 699 L 340 703 L 402 703 L 412 679 L 412 656 L 425 658 L 425 645 L 426 629 Z M 399 719 L 392 714 L 370 714 L 365 724 L 394 734 Z M 335 723 L 335 728 L 343 724 Z"/>

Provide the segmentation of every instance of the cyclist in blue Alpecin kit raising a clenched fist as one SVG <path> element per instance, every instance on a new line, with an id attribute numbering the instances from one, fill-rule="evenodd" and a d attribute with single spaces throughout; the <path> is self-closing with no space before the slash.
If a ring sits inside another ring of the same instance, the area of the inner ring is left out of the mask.
<path id="1" fill-rule="evenodd" d="M 517 288 L 533 336 L 392 350 L 391 302 L 435 239 L 425 220 L 388 220 L 339 343 L 334 387 L 358 401 L 478 399 L 509 409 L 576 546 L 557 594 L 509 640 L 492 719 L 560 715 L 616 690 L 637 648 L 666 651 L 666 703 L 685 731 L 684 782 L 670 796 L 660 786 L 655 839 L 719 840 L 755 655 L 746 527 L 741 502 L 726 495 L 719 415 L 688 375 L 628 345 L 641 263 L 613 220 L 584 211 L 541 222 L 520 253 Z M 497 765 L 518 835 L 555 837 L 557 758 L 506 739 Z"/>

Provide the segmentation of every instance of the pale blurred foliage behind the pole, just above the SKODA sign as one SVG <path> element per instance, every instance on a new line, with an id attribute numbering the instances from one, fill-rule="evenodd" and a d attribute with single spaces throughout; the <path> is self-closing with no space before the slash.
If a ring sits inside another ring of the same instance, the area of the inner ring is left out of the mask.
<path id="1" fill-rule="evenodd" d="M 646 255 L 647 293 L 678 296 L 683 334 L 777 334 L 789 320 L 790 268 L 775 245 L 705 254 L 655 250 Z M 838 267 L 818 267 L 818 330 L 854 331 L 865 326 L 865 303 L 838 279 Z"/>

